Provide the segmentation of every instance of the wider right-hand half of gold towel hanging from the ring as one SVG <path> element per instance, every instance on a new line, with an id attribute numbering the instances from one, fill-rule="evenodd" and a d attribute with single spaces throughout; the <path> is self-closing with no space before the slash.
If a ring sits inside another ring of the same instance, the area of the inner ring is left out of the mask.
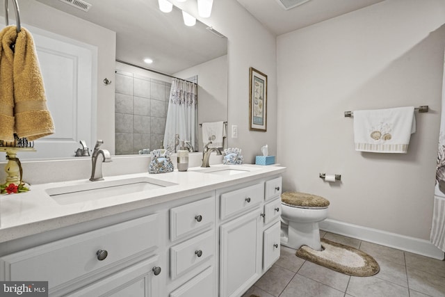
<path id="1" fill-rule="evenodd" d="M 34 141 L 53 134 L 54 124 L 47 108 L 34 40 L 31 33 L 23 27 L 15 40 L 13 70 L 17 136 Z"/>

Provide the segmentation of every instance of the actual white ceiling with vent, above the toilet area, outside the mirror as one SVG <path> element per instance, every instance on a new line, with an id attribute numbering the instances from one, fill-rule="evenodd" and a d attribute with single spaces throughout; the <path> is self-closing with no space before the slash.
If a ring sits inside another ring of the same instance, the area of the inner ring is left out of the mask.
<path id="1" fill-rule="evenodd" d="M 278 1 L 238 0 L 275 35 L 289 33 L 384 0 L 309 0 L 290 10 L 284 10 Z"/>

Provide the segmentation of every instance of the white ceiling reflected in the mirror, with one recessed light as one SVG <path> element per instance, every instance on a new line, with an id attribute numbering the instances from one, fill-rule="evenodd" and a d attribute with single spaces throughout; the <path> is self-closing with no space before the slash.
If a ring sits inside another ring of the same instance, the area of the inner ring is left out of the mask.
<path id="1" fill-rule="evenodd" d="M 118 60 L 166 74 L 227 54 L 227 38 L 211 33 L 201 22 L 185 26 L 179 8 L 162 13 L 157 0 L 85 0 L 92 4 L 88 12 L 59 0 L 36 1 L 115 31 Z M 154 63 L 145 64 L 144 58 Z"/>

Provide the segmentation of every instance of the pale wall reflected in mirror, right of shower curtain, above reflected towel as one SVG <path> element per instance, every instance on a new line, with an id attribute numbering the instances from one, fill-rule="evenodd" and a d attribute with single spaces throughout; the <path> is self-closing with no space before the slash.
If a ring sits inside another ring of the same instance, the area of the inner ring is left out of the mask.
<path id="1" fill-rule="evenodd" d="M 187 79 L 197 75 L 197 119 L 202 122 L 227 121 L 227 55 L 173 74 Z M 199 151 L 204 147 L 198 128 Z"/>

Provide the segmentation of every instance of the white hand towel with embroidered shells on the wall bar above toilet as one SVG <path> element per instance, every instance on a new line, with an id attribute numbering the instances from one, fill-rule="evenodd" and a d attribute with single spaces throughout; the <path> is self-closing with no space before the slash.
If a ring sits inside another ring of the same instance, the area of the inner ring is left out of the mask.
<path id="1" fill-rule="evenodd" d="M 415 131 L 414 106 L 354 111 L 357 151 L 406 153 Z"/>

